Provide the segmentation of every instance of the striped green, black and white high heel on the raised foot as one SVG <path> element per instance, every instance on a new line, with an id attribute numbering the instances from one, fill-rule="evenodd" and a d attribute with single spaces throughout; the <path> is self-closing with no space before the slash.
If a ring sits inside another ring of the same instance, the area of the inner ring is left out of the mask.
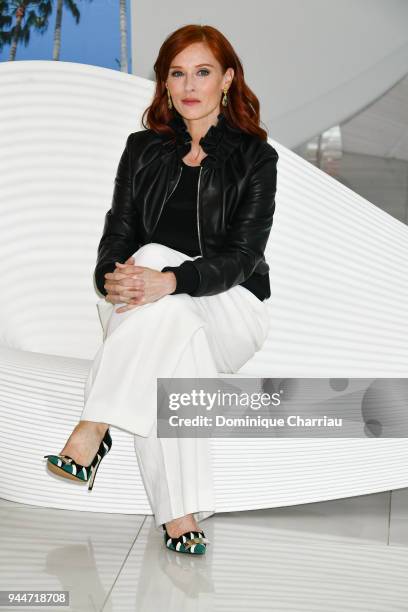
<path id="1" fill-rule="evenodd" d="M 80 463 L 76 463 L 76 461 L 74 461 L 68 455 L 44 455 L 44 459 L 48 457 L 47 467 L 51 472 L 57 474 L 57 476 L 70 478 L 71 480 L 76 480 L 77 482 L 88 482 L 88 490 L 91 491 L 98 467 L 102 459 L 109 453 L 111 448 L 112 438 L 108 428 L 102 442 L 99 445 L 95 457 L 92 459 L 89 465 L 81 465 Z"/>

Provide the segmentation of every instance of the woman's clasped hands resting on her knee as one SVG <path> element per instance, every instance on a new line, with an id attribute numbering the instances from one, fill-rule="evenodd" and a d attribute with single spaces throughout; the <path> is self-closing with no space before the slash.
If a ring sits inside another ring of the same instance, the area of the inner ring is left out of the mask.
<path id="1" fill-rule="evenodd" d="M 173 272 L 160 272 L 145 266 L 135 266 L 134 257 L 125 263 L 115 262 L 116 269 L 105 274 L 105 299 L 111 304 L 120 304 L 116 312 L 125 312 L 136 306 L 155 302 L 161 297 L 173 293 L 176 288 L 176 277 Z"/>

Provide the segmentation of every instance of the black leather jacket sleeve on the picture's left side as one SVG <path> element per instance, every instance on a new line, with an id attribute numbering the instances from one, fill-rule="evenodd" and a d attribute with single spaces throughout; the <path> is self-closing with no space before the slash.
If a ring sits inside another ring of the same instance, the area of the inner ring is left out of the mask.
<path id="1" fill-rule="evenodd" d="M 138 249 L 135 207 L 132 203 L 132 181 L 130 168 L 129 143 L 119 160 L 113 189 L 112 204 L 105 215 L 102 238 L 98 246 L 98 256 L 94 270 L 98 290 L 107 295 L 104 288 L 106 272 L 115 270 L 115 261 L 124 263 Z"/>

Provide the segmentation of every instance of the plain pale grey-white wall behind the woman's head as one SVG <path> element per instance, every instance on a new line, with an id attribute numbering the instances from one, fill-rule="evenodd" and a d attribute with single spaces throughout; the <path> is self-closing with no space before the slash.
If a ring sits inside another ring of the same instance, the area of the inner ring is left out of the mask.
<path id="1" fill-rule="evenodd" d="M 212 25 L 241 58 L 270 137 L 290 148 L 348 119 L 408 73 L 406 0 L 131 5 L 134 74 L 154 78 L 170 32 L 187 23 Z"/>

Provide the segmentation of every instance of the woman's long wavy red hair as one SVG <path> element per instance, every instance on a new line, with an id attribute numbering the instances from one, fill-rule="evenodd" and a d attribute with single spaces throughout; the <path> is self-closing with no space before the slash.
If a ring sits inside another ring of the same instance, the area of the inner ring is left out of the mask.
<path id="1" fill-rule="evenodd" d="M 260 127 L 259 100 L 244 79 L 244 69 L 231 43 L 216 28 L 207 25 L 186 25 L 172 32 L 159 50 L 154 71 L 156 90 L 153 101 L 143 113 L 142 125 L 159 134 L 174 135 L 167 122 L 174 117 L 176 110 L 168 108 L 166 80 L 173 59 L 193 43 L 205 43 L 220 63 L 222 70 L 234 69 L 234 78 L 228 89 L 228 104 L 222 106 L 222 113 L 228 122 L 244 132 L 255 134 L 267 140 L 268 133 Z"/>

